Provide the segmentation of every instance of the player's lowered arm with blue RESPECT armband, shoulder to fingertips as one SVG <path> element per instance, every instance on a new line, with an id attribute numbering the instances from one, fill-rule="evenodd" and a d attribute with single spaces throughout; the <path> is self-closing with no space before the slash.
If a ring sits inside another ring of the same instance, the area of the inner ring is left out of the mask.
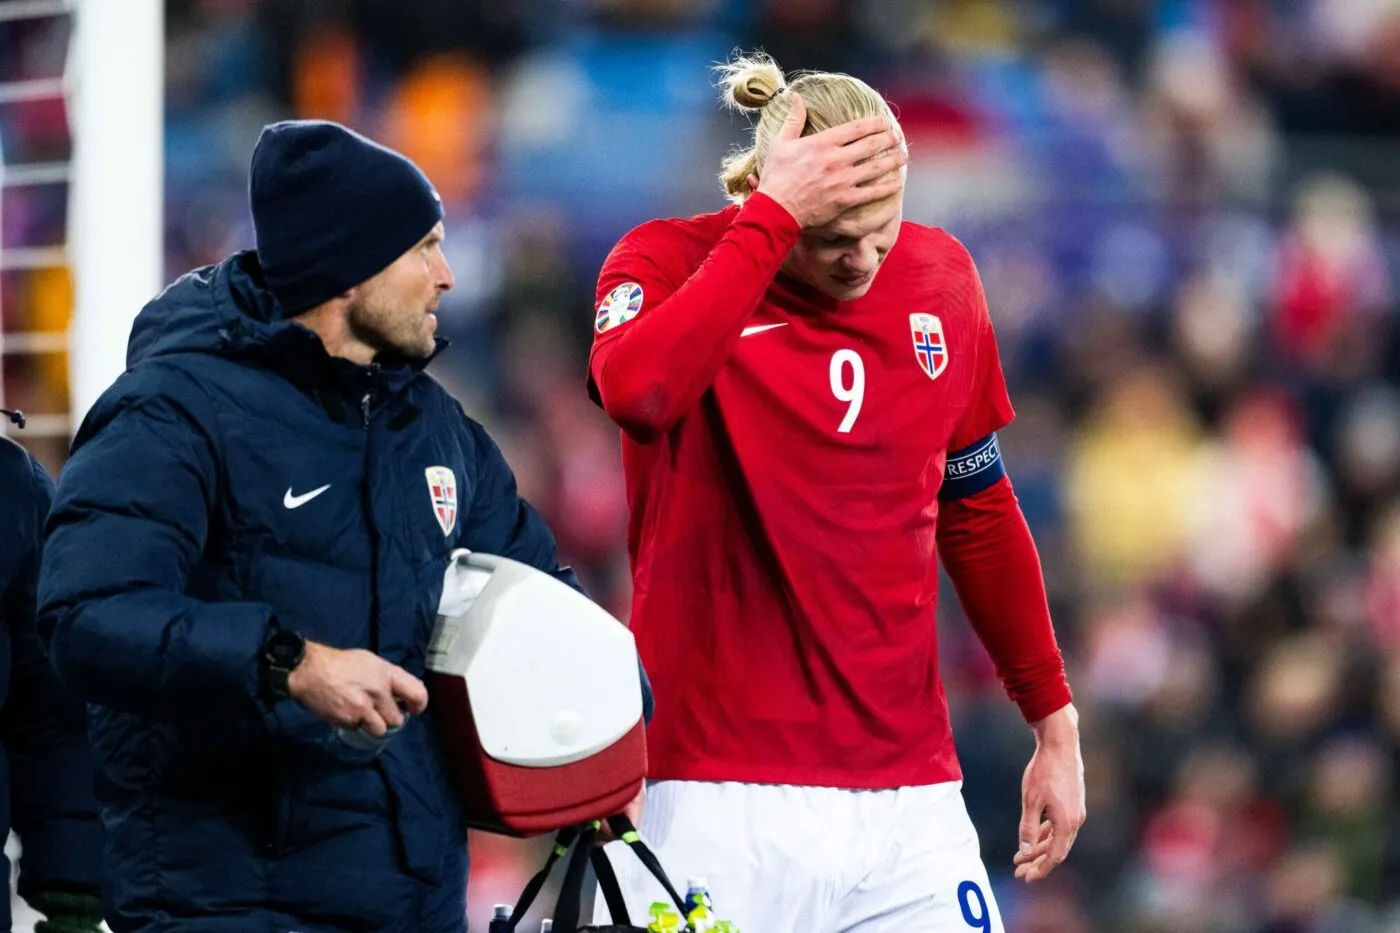
<path id="1" fill-rule="evenodd" d="M 938 513 L 938 555 L 1007 693 L 1036 735 L 1022 780 L 1016 877 L 1039 881 L 1064 862 L 1085 820 L 1078 714 L 1056 643 L 1040 556 L 1001 462 L 995 430 L 1011 420 L 995 336 L 969 256 L 981 321 L 973 403 L 953 436 Z"/>

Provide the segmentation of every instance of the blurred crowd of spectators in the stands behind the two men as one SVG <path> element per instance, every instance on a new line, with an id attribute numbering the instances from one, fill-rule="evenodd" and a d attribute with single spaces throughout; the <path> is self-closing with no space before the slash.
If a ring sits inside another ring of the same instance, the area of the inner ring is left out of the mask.
<path id="1" fill-rule="evenodd" d="M 67 28 L 0 24 L 0 80 L 62 71 Z M 594 275 L 631 226 L 721 206 L 746 122 L 710 67 L 756 46 L 889 97 L 906 217 L 986 282 L 1089 794 L 1071 860 L 1015 884 L 1030 738 L 945 587 L 1008 930 L 1400 932 L 1397 0 L 171 1 L 167 272 L 252 245 L 265 122 L 333 118 L 417 160 L 458 282 L 434 371 L 626 618 L 617 433 L 584 391 Z M 62 101 L 0 106 L 0 136 L 11 163 L 63 158 Z M 62 185 L 8 192 L 6 245 L 64 224 Z M 62 270 L 3 286 L 7 331 L 66 325 Z M 62 354 L 4 378 L 66 409 Z M 62 465 L 62 438 L 32 447 Z M 540 852 L 475 841 L 477 929 Z"/>

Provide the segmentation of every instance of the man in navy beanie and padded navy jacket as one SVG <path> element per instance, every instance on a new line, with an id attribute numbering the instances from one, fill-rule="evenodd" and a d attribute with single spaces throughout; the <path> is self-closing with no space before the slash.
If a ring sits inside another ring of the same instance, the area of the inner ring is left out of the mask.
<path id="1" fill-rule="evenodd" d="M 452 273 L 423 172 L 276 123 L 249 193 L 258 248 L 141 311 L 48 525 L 41 632 L 91 703 L 106 922 L 461 932 L 420 679 L 448 555 L 577 581 L 424 373 Z"/>

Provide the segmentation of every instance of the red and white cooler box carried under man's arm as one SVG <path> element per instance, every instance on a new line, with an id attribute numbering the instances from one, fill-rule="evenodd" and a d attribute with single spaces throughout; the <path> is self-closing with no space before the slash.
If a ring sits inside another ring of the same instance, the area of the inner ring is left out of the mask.
<path id="1" fill-rule="evenodd" d="M 529 836 L 622 813 L 647 773 L 637 646 L 573 587 L 455 551 L 427 686 L 469 825 Z"/>

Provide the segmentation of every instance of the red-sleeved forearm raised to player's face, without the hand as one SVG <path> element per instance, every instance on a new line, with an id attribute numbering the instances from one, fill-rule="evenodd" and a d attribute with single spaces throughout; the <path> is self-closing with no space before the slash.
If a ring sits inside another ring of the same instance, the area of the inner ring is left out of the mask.
<path id="1" fill-rule="evenodd" d="M 700 402 L 799 233 L 777 202 L 755 195 L 685 284 L 598 345 L 592 374 L 615 422 L 650 440 Z"/>

